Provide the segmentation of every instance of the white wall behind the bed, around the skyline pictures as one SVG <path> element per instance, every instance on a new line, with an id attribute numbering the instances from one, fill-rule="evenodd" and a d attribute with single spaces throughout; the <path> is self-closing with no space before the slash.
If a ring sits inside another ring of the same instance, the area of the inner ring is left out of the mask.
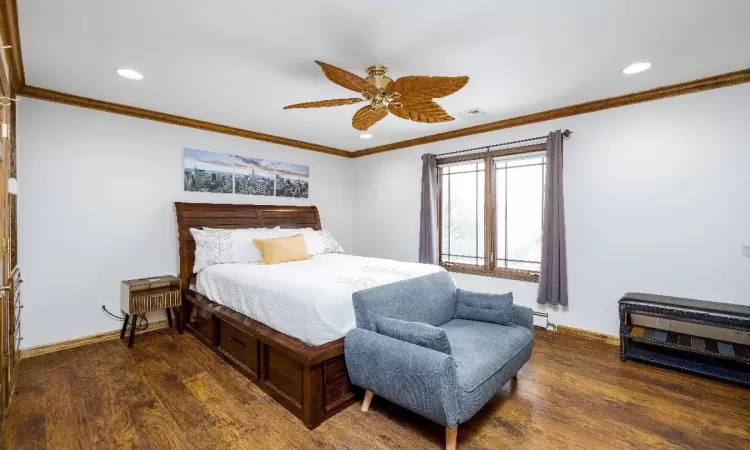
<path id="1" fill-rule="evenodd" d="M 352 248 L 350 160 L 28 98 L 18 108 L 24 347 L 116 329 L 97 305 L 119 312 L 121 280 L 177 274 L 175 201 L 314 204 Z M 185 147 L 309 165 L 310 198 L 184 192 Z"/>

